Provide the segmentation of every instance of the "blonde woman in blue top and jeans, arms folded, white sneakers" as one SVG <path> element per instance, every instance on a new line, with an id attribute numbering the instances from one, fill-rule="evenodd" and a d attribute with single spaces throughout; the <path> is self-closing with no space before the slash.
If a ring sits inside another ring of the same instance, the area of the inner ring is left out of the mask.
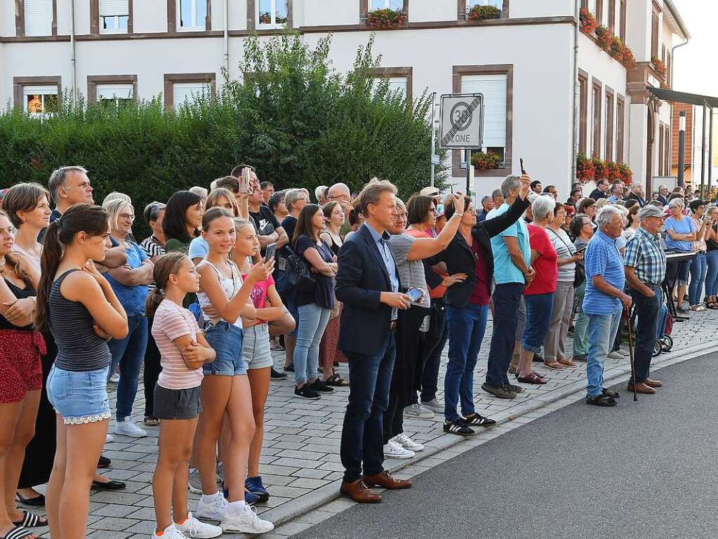
<path id="1" fill-rule="evenodd" d="M 103 205 L 110 216 L 110 233 L 113 240 L 125 249 L 127 263 L 106 273 L 112 290 L 127 314 L 128 333 L 123 339 L 111 339 L 108 343 L 112 354 L 109 372 L 120 367 L 117 384 L 117 408 L 115 433 L 141 438 L 147 433 L 131 421 L 132 405 L 137 393 L 139 371 L 147 347 L 148 324 L 144 316 L 147 301 L 147 285 L 152 283 L 154 264 L 144 250 L 129 240 L 134 222 L 134 207 L 121 199 L 109 200 Z"/>

